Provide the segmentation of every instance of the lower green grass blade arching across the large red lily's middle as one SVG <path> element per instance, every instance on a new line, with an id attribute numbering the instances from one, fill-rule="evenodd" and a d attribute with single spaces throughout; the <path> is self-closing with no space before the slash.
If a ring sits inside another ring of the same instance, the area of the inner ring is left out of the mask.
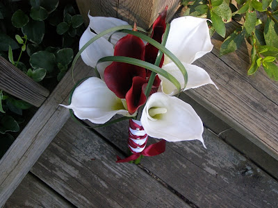
<path id="1" fill-rule="evenodd" d="M 99 59 L 97 64 L 101 62 L 123 62 L 126 64 L 133 64 L 138 67 L 149 69 L 151 71 L 154 71 L 155 73 L 160 74 L 161 76 L 164 76 L 165 78 L 167 78 L 167 80 L 170 80 L 170 82 L 173 83 L 174 86 L 176 86 L 179 91 L 181 90 L 181 84 L 176 78 L 174 78 L 174 76 L 172 76 L 172 74 L 168 73 L 164 69 L 161 69 L 160 67 L 151 64 L 149 62 L 145 62 L 142 60 L 138 60 L 136 58 L 129 58 L 125 56 L 106 56 L 104 58 Z"/>

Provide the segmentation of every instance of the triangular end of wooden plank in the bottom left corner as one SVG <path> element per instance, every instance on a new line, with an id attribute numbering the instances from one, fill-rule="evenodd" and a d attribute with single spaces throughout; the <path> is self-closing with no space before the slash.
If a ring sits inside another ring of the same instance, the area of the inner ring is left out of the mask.
<path id="1" fill-rule="evenodd" d="M 8 207 L 74 207 L 44 182 L 28 173 L 3 208 Z"/>

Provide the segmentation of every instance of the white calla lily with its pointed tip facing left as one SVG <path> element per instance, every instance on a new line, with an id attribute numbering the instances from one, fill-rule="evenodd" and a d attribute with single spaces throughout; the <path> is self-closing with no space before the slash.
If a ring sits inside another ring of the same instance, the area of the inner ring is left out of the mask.
<path id="1" fill-rule="evenodd" d="M 124 110 L 120 98 L 108 89 L 103 80 L 92 77 L 76 87 L 70 108 L 79 119 L 88 119 L 92 123 L 106 123 L 115 114 L 131 116 Z"/>

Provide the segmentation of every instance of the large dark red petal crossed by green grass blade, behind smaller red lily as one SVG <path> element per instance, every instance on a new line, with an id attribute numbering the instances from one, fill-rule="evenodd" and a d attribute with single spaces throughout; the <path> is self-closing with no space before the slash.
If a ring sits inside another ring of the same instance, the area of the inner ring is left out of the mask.
<path id="1" fill-rule="evenodd" d="M 139 37 L 126 35 L 115 45 L 114 55 L 145 60 L 145 44 Z M 119 98 L 125 98 L 135 76 L 145 79 L 145 69 L 132 64 L 113 62 L 104 71 L 104 81 L 107 87 Z"/>

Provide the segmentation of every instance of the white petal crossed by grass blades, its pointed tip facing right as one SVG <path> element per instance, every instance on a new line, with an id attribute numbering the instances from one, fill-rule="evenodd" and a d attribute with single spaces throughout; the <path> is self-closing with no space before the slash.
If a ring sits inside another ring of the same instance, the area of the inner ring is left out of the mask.
<path id="1" fill-rule="evenodd" d="M 216 89 L 218 89 L 218 87 L 215 85 L 215 83 L 213 83 L 210 76 L 204 69 L 202 69 L 201 67 L 197 67 L 193 64 L 186 64 L 185 62 L 181 62 L 181 63 L 183 64 L 184 67 L 186 67 L 186 71 L 188 73 L 188 83 L 184 90 L 201 87 L 207 84 L 212 84 L 216 87 Z M 172 74 L 172 76 L 177 78 L 177 80 L 181 84 L 181 89 L 184 88 L 183 75 L 179 70 L 179 68 L 176 66 L 176 64 L 174 64 L 174 62 L 170 62 L 169 64 L 166 64 L 165 66 L 162 67 L 162 69 L 164 69 L 165 71 Z M 169 80 L 167 80 L 161 75 L 158 76 L 161 79 L 161 86 L 158 89 L 159 92 L 164 92 L 165 94 L 170 96 L 179 93 L 177 87 L 175 87 Z"/>

